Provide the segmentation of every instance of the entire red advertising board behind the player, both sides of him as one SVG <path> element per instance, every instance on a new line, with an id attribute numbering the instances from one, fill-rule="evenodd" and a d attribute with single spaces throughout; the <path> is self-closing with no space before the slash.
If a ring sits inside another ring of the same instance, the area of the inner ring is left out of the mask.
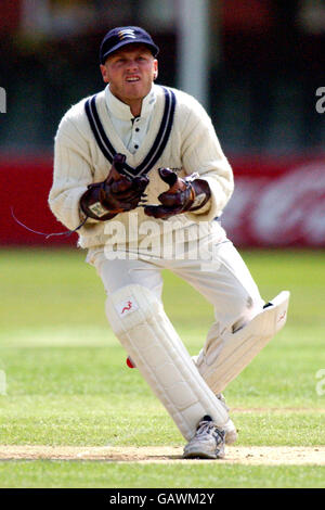
<path id="1" fill-rule="evenodd" d="M 222 225 L 237 246 L 325 246 L 325 156 L 230 158 L 235 191 Z M 0 244 L 76 245 L 52 215 L 51 157 L 0 158 Z"/>

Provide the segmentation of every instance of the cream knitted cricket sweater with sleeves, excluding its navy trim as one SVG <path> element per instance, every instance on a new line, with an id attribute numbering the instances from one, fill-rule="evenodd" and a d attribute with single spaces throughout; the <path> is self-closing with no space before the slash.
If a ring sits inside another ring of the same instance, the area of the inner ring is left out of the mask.
<path id="1" fill-rule="evenodd" d="M 154 85 L 156 103 L 151 128 L 143 140 L 140 149 L 132 154 L 123 145 L 118 137 L 112 118 L 109 117 L 105 91 L 96 97 L 96 109 L 105 132 L 116 150 L 127 156 L 127 164 L 133 168 L 138 167 L 153 146 L 158 133 L 165 106 L 162 88 Z M 107 224 L 119 221 L 125 229 L 127 240 L 141 241 L 147 232 L 147 222 L 156 224 L 154 234 L 166 229 L 168 222 L 171 229 L 191 229 L 197 222 L 207 222 L 207 229 L 212 226 L 214 217 L 222 214 L 222 209 L 229 202 L 233 189 L 233 173 L 224 156 L 212 123 L 203 106 L 191 95 L 177 89 L 170 89 L 176 94 L 177 103 L 173 124 L 168 142 L 159 160 L 148 171 L 150 184 L 146 188 L 147 203 L 159 204 L 157 196 L 168 189 L 160 179 L 158 168 L 169 167 L 176 169 L 180 177 L 196 171 L 210 187 L 210 208 L 200 212 L 177 215 L 167 221 L 155 219 L 144 214 L 142 207 L 129 213 L 121 213 L 108 221 L 96 221 L 88 219 L 78 230 L 79 245 L 81 247 L 94 247 L 116 243 L 112 237 L 110 226 Z M 98 145 L 91 130 L 84 111 L 88 98 L 72 106 L 60 123 L 54 145 L 54 173 L 53 184 L 49 195 L 49 205 L 56 218 L 68 229 L 76 229 L 83 219 L 80 212 L 79 201 L 92 182 L 103 181 L 110 168 L 109 162 Z M 216 228 L 216 222 L 213 222 Z M 130 227 L 131 226 L 131 227 Z M 136 231 L 134 230 L 136 226 Z M 141 228 L 143 226 L 143 229 Z M 105 232 L 106 227 L 106 232 Z M 222 237 L 222 228 L 220 235 Z M 192 229 L 194 235 L 202 235 L 203 230 Z M 140 232 L 140 233 L 139 233 Z M 197 233 L 196 233 L 197 232 Z M 224 235 L 224 234 L 223 234 Z M 192 238 L 193 239 L 193 238 Z"/>

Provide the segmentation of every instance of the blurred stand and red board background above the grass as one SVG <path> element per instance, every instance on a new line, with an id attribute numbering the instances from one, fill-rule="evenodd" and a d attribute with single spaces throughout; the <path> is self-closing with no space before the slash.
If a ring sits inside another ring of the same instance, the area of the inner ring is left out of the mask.
<path id="1" fill-rule="evenodd" d="M 62 230 L 47 206 L 53 138 L 69 106 L 104 87 L 99 46 L 120 25 L 147 29 L 158 82 L 193 93 L 211 116 L 236 177 L 229 235 L 325 246 L 323 0 L 1 0 L 1 244 L 76 243 L 44 242 L 10 208 L 36 230 Z"/>

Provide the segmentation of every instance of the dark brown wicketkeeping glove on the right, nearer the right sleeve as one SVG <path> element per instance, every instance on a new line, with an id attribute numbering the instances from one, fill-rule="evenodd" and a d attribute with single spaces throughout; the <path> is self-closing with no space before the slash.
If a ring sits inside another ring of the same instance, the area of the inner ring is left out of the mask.
<path id="1" fill-rule="evenodd" d="M 160 178 L 169 184 L 169 190 L 158 196 L 162 205 L 146 205 L 144 212 L 154 218 L 168 219 L 187 211 L 198 211 L 211 196 L 207 181 L 198 179 L 198 174 L 181 179 L 170 168 L 159 168 Z"/>

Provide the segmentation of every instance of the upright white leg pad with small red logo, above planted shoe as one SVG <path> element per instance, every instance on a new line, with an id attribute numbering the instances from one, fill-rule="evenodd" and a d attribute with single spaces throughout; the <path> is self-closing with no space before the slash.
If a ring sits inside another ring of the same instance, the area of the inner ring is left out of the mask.
<path id="1" fill-rule="evenodd" d="M 136 368 L 160 399 L 185 439 L 209 415 L 223 429 L 229 415 L 198 373 L 164 311 L 146 288 L 125 286 L 107 297 L 109 323 Z"/>

